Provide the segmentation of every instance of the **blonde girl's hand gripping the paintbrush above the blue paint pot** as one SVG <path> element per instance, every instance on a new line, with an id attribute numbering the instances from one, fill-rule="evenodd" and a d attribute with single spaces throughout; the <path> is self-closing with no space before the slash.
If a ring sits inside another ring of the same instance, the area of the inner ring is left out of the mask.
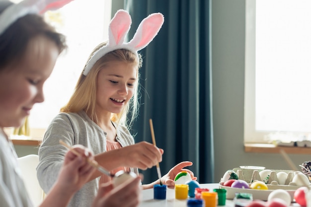
<path id="1" fill-rule="evenodd" d="M 163 150 L 151 143 L 139 142 L 135 145 L 119 149 L 119 157 L 123 157 L 121 166 L 138 167 L 142 170 L 151 168 L 162 161 Z"/>

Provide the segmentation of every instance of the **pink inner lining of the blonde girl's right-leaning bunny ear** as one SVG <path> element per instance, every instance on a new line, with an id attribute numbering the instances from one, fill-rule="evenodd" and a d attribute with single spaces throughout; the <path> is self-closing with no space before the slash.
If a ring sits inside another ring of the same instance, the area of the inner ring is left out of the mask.
<path id="1" fill-rule="evenodd" d="M 155 37 L 162 26 L 160 23 L 162 21 L 161 17 L 154 16 L 154 18 L 150 18 L 147 22 L 143 24 L 142 27 L 142 39 L 140 43 L 135 48 L 140 48 L 142 46 L 148 45 Z"/>

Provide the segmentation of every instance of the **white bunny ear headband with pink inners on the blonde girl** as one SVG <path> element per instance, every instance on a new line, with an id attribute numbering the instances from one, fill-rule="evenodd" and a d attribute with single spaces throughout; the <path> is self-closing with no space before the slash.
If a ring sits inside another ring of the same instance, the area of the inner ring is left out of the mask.
<path id="1" fill-rule="evenodd" d="M 108 43 L 96 51 L 86 63 L 83 75 L 87 75 L 95 62 L 108 52 L 125 49 L 136 54 L 144 49 L 157 35 L 162 27 L 164 17 L 161 13 L 153 13 L 146 17 L 138 26 L 133 39 L 124 43 L 125 36 L 130 30 L 132 19 L 130 14 L 125 10 L 118 10 L 109 24 Z"/>

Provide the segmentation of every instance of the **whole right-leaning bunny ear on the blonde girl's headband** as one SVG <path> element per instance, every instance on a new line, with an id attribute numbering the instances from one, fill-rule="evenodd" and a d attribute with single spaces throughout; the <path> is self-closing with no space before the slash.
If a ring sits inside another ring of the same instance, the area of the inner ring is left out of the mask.
<path id="1" fill-rule="evenodd" d="M 135 48 L 136 51 L 142 50 L 156 37 L 163 22 L 164 17 L 161 13 L 150 14 L 139 24 L 133 39 L 128 45 Z"/>

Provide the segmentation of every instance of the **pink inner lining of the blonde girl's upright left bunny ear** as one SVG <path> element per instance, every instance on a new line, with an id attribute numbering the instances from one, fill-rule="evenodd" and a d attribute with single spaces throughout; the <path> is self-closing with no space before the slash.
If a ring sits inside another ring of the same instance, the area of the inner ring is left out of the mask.
<path id="1" fill-rule="evenodd" d="M 128 32 L 131 23 L 131 17 L 126 12 L 118 12 L 113 21 L 111 21 L 110 30 L 117 45 Z"/>

